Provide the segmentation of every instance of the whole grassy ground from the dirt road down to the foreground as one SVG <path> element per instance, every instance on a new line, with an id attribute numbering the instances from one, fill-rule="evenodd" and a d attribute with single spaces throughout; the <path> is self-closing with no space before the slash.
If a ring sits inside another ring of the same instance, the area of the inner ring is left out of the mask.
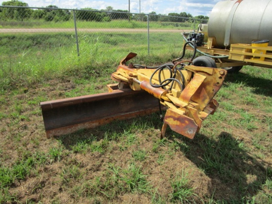
<path id="1" fill-rule="evenodd" d="M 34 47 L 33 34 L 23 45 L 8 36 L 0 41 L 0 203 L 272 203 L 272 69 L 229 74 L 193 140 L 170 129 L 160 140 L 156 113 L 46 139 L 39 102 L 106 92 L 129 51 L 134 63 L 161 64 L 180 56 L 180 36 L 156 36 L 148 56 L 140 40 L 128 47 L 123 35 L 83 35 L 79 57 L 69 40 L 54 46 L 63 35 Z"/>

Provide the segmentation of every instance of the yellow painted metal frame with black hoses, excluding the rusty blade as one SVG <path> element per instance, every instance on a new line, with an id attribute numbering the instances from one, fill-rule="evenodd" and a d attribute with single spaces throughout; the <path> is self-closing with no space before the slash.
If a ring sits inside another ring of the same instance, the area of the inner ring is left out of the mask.
<path id="1" fill-rule="evenodd" d="M 127 66 L 125 63 L 134 56 L 136 56 L 135 53 L 130 53 L 124 58 L 111 78 L 120 83 L 127 83 L 135 91 L 147 91 L 159 99 L 161 104 L 168 107 L 164 117 L 162 137 L 165 136 L 166 127 L 169 125 L 172 130 L 193 139 L 195 133 L 199 131 L 202 121 L 217 109 L 218 102 L 213 98 L 223 85 L 227 71 L 193 65 L 185 66 L 184 70 L 181 70 L 185 79 L 184 90 L 175 82 L 170 91 L 169 85 L 164 89 L 154 88 L 150 85 L 149 80 L 154 69 L 138 69 L 133 68 L 132 65 Z M 182 63 L 182 61 L 178 63 Z M 169 70 L 162 70 L 161 77 L 161 80 L 168 79 L 170 77 Z M 181 81 L 179 72 L 176 78 Z M 158 75 L 154 75 L 152 84 L 160 84 Z"/>

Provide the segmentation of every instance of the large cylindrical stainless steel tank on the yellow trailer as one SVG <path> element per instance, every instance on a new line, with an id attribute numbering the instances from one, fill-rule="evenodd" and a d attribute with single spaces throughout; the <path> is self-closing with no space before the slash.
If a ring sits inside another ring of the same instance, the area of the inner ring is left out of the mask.
<path id="1" fill-rule="evenodd" d="M 253 40 L 269 40 L 272 46 L 272 0 L 218 2 L 209 18 L 208 36 L 222 48 Z"/>

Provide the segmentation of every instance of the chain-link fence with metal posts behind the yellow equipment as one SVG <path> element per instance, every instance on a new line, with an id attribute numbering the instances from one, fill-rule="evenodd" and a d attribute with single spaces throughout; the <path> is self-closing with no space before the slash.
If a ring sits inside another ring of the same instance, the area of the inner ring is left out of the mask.
<path id="1" fill-rule="evenodd" d="M 54 6 L 0 6 L 0 71 L 18 63 L 19 67 L 29 65 L 28 60 L 36 61 L 32 66 L 52 65 L 68 52 L 94 57 L 130 51 L 179 53 L 181 33 L 195 30 L 199 23 L 207 20 Z"/>

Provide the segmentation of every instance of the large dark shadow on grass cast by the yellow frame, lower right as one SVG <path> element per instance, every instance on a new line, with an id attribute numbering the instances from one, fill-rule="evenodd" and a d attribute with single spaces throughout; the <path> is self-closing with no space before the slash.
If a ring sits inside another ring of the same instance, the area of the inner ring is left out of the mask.
<path id="1" fill-rule="evenodd" d="M 262 190 L 268 178 L 268 163 L 257 161 L 229 133 L 222 132 L 218 140 L 202 134 L 194 140 L 181 140 L 181 151 L 211 178 L 209 193 L 215 200 L 246 203 Z"/>

